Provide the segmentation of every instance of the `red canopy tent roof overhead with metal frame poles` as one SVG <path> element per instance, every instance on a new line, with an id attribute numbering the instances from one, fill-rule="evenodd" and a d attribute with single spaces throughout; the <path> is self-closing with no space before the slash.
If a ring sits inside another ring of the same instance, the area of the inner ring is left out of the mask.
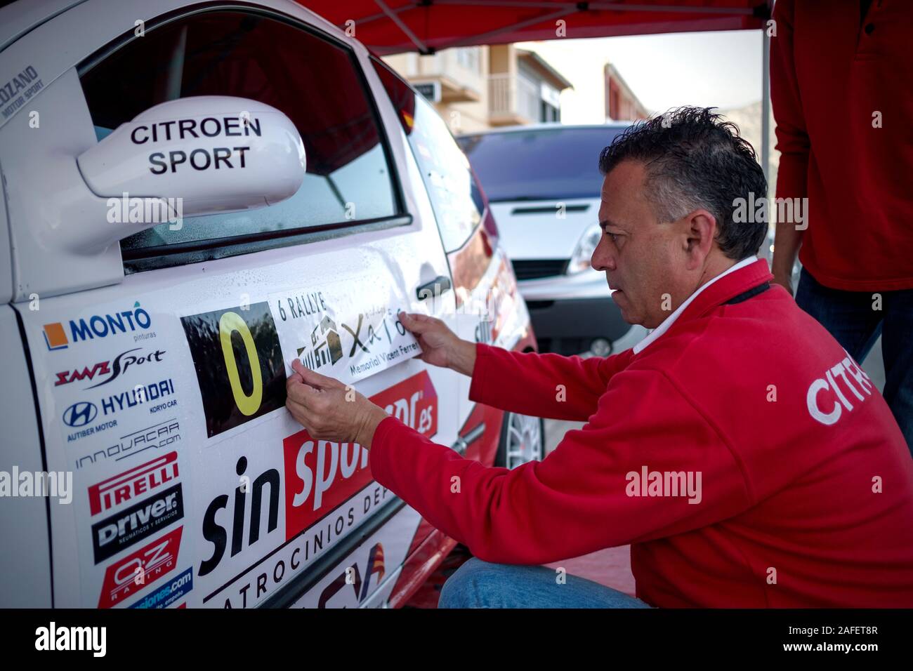
<path id="1" fill-rule="evenodd" d="M 299 0 L 378 54 L 566 37 L 761 28 L 772 0 Z M 559 34 L 563 21 L 563 34 Z"/>

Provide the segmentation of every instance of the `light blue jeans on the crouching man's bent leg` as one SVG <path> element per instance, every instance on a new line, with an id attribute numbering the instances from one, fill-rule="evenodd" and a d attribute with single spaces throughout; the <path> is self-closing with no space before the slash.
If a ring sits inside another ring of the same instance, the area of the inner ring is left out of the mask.
<path id="1" fill-rule="evenodd" d="M 444 583 L 438 608 L 649 608 L 609 587 L 545 566 L 492 564 L 473 557 Z"/>

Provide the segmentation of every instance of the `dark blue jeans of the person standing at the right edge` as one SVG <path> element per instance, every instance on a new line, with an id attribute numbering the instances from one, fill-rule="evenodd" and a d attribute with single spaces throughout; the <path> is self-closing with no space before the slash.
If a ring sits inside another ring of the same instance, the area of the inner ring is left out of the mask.
<path id="1" fill-rule="evenodd" d="M 873 294 L 881 309 L 873 309 Z M 805 268 L 796 303 L 862 363 L 881 336 L 885 360 L 884 396 L 913 454 L 913 289 L 844 291 L 819 284 Z"/>

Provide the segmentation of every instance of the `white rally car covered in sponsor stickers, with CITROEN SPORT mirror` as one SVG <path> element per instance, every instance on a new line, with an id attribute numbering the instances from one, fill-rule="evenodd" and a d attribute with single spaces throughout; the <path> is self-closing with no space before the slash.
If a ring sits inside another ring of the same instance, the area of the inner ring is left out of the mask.
<path id="1" fill-rule="evenodd" d="M 289 0 L 0 9 L 0 606 L 402 605 L 455 541 L 285 409 L 298 358 L 507 467 L 397 309 L 528 351 L 435 110 Z"/>

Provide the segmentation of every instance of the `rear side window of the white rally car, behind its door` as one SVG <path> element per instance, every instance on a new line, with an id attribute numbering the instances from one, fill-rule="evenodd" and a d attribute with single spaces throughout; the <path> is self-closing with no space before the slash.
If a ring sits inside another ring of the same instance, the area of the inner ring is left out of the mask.
<path id="1" fill-rule="evenodd" d="M 458 249 L 485 209 L 466 156 L 431 103 L 382 61 L 372 58 L 372 62 L 422 171 L 444 248 Z"/>

